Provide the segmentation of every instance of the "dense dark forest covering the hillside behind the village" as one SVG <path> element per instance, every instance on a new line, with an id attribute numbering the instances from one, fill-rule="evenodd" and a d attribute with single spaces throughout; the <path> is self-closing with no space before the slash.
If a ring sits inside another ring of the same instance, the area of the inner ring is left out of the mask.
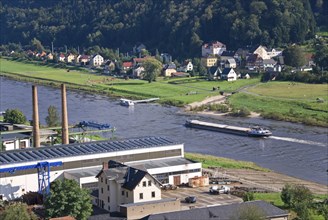
<path id="1" fill-rule="evenodd" d="M 327 13 L 323 0 L 1 0 L 0 44 L 129 51 L 142 42 L 183 58 L 211 40 L 229 49 L 303 42 L 328 26 Z"/>

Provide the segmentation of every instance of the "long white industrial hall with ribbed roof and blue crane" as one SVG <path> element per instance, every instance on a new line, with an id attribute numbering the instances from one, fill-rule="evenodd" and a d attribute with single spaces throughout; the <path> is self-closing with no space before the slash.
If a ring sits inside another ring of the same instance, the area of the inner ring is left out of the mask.
<path id="1" fill-rule="evenodd" d="M 29 191 L 41 192 L 51 181 L 65 177 L 94 188 L 98 181 L 94 174 L 109 160 L 136 166 L 142 162 L 150 174 L 172 184 L 201 176 L 201 163 L 184 159 L 183 144 L 165 137 L 64 144 L 1 153 L 0 197 L 11 200 Z"/>

